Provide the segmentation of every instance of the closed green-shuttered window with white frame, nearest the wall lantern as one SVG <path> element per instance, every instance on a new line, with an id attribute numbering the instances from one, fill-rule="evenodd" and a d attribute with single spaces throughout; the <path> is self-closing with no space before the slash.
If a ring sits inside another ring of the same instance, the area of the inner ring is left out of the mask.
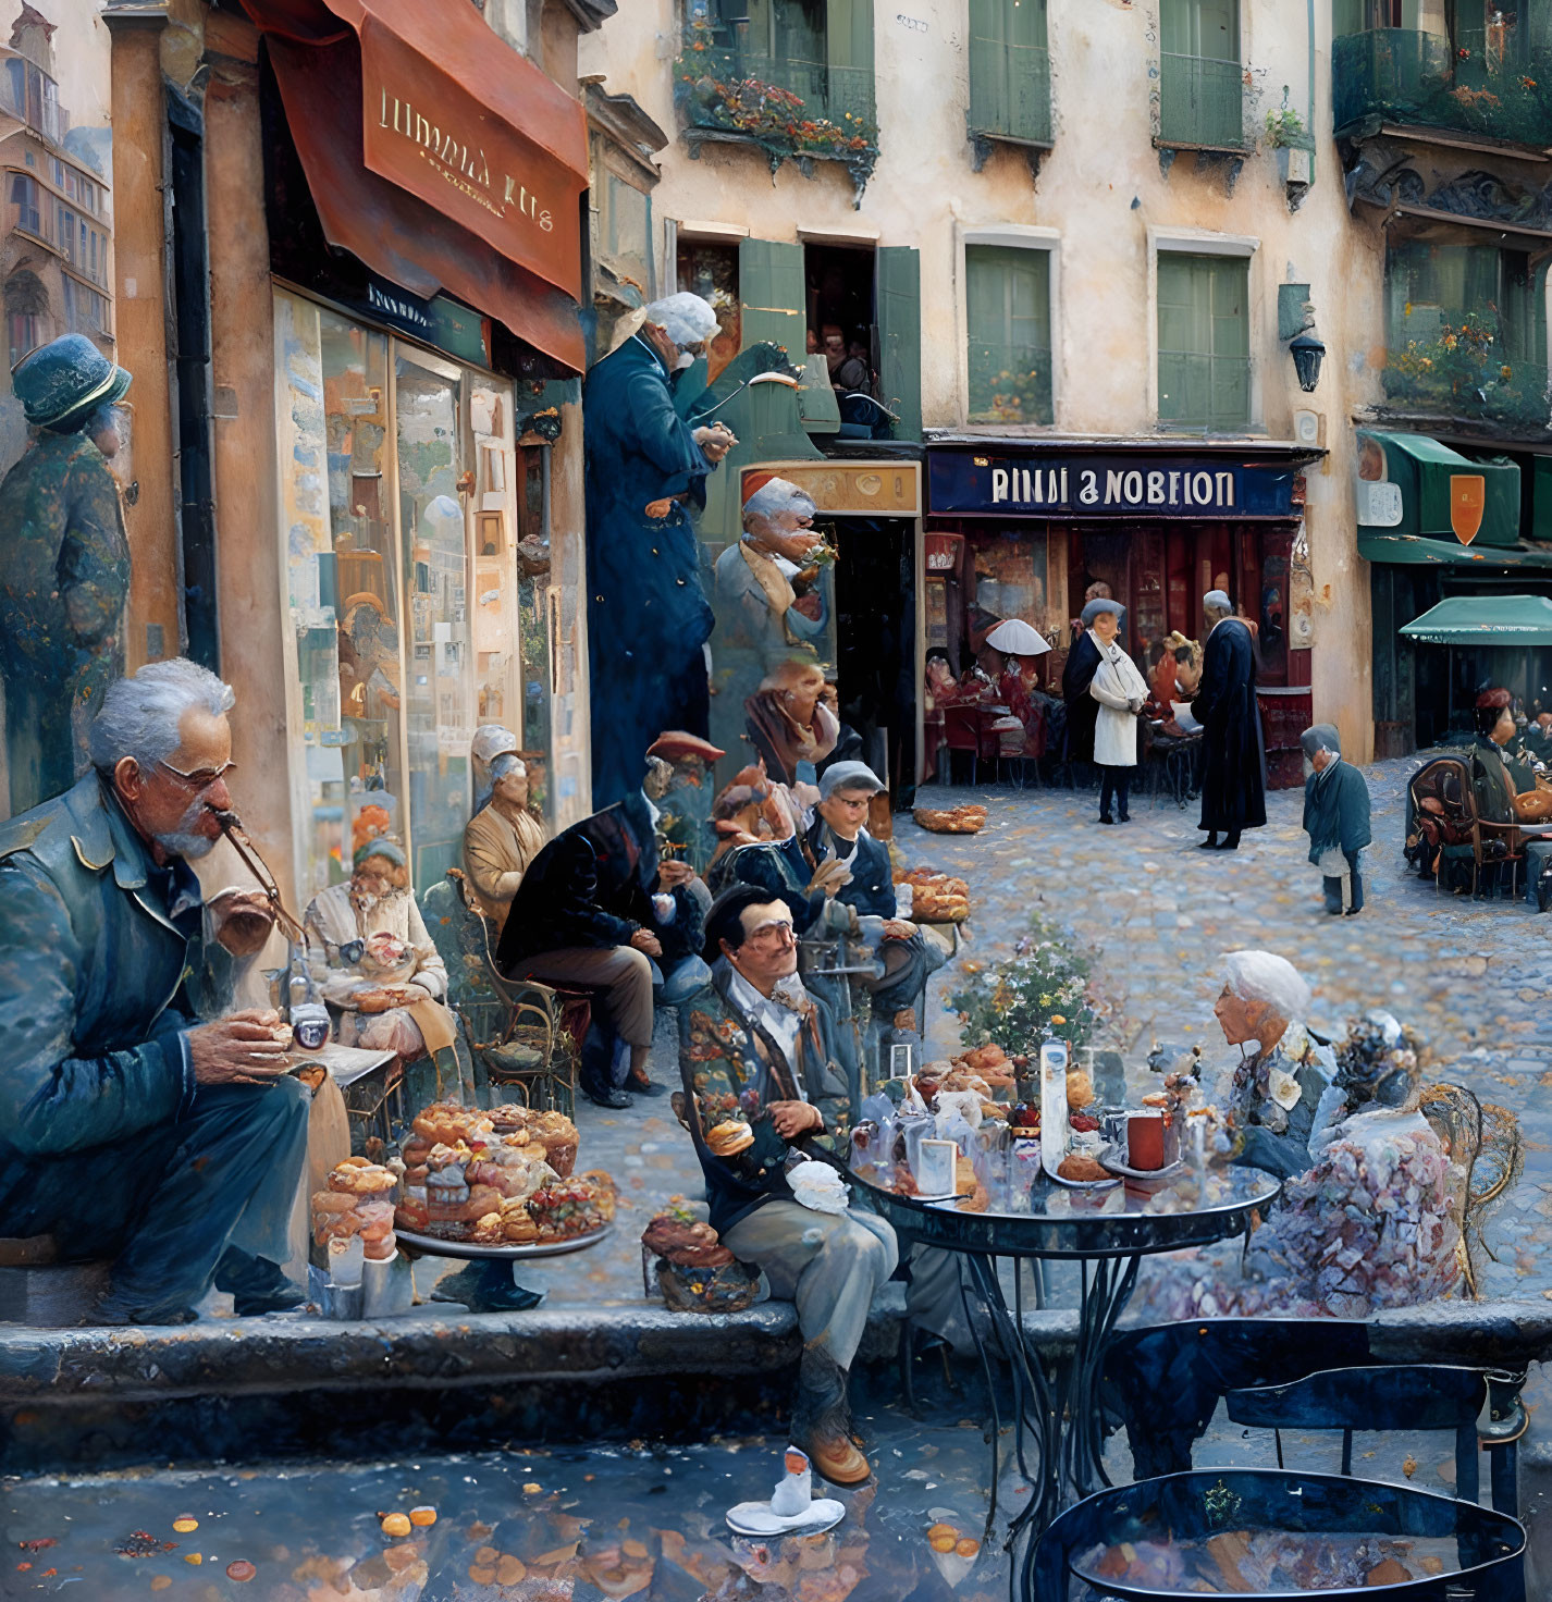
<path id="1" fill-rule="evenodd" d="M 1251 423 L 1249 261 L 1158 255 L 1158 420 L 1241 434 Z"/>

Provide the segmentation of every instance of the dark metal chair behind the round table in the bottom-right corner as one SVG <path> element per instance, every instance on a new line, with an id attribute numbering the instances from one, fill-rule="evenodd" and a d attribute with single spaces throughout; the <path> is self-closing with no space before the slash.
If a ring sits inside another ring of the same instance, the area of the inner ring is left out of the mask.
<path id="1" fill-rule="evenodd" d="M 1491 1397 L 1491 1421 L 1480 1432 L 1491 1451 L 1493 1506 L 1518 1509 L 1518 1447 L 1528 1423 L 1520 1405 L 1523 1373 L 1454 1368 L 1443 1363 L 1326 1368 L 1291 1384 L 1230 1391 L 1224 1408 L 1235 1424 L 1270 1429 L 1283 1467 L 1285 1429 L 1339 1429 L 1342 1474 L 1352 1475 L 1355 1431 L 1454 1431 L 1454 1495 L 1477 1501 L 1478 1418 Z M 1494 1427 L 1496 1426 L 1496 1427 Z"/>

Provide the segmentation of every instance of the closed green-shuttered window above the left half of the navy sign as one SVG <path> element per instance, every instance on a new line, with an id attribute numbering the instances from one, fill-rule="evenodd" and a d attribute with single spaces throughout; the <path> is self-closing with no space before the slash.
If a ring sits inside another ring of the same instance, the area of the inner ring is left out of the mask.
<path id="1" fill-rule="evenodd" d="M 964 247 L 972 423 L 1049 423 L 1051 252 Z"/>

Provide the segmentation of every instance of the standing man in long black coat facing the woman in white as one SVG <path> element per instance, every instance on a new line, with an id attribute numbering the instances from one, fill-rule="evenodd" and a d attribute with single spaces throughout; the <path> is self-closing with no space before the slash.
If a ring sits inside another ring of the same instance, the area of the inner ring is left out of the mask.
<path id="1" fill-rule="evenodd" d="M 1201 598 L 1208 646 L 1192 716 L 1201 724 L 1203 851 L 1238 851 L 1240 831 L 1267 822 L 1267 758 L 1256 703 L 1256 646 L 1222 590 Z M 1219 839 L 1222 833 L 1222 839 Z"/>

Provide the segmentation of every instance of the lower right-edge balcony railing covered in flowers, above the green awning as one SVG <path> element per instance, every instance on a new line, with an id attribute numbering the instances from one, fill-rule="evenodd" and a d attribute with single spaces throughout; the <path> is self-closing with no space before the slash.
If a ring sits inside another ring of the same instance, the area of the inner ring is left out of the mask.
<path id="1" fill-rule="evenodd" d="M 1491 423 L 1506 433 L 1552 433 L 1544 362 L 1506 349 L 1477 312 L 1445 319 L 1437 333 L 1385 352 L 1385 405 L 1395 412 Z"/>

